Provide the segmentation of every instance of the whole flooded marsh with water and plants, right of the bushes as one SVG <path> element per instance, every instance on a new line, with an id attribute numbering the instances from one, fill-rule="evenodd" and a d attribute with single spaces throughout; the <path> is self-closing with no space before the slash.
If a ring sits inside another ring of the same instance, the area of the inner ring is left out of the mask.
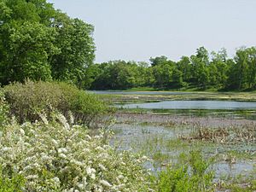
<path id="1" fill-rule="evenodd" d="M 114 133 L 111 144 L 148 156 L 145 167 L 153 172 L 177 163 L 181 154 L 200 151 L 212 159 L 219 191 L 233 185 L 245 189 L 256 179 L 256 102 L 232 94 L 227 95 L 229 99 L 220 94 L 218 100 L 216 93 L 195 100 L 199 95 L 111 93 L 108 98 L 118 106 L 115 124 L 110 127 Z M 151 100 L 145 102 L 147 96 Z M 180 96 L 186 97 L 177 100 Z"/>

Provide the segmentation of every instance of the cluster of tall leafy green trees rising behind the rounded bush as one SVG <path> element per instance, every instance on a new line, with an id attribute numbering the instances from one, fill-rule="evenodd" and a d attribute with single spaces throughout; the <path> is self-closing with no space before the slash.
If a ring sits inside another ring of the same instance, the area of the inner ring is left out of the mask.
<path id="1" fill-rule="evenodd" d="M 0 0 L 0 84 L 41 79 L 84 87 L 93 30 L 46 0 Z"/>

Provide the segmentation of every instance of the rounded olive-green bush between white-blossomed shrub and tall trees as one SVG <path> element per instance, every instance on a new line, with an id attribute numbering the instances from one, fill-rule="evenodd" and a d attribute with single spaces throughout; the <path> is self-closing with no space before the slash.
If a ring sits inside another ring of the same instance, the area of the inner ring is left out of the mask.
<path id="1" fill-rule="evenodd" d="M 49 116 L 53 110 L 58 110 L 66 118 L 72 112 L 76 123 L 95 126 L 97 120 L 108 113 L 108 106 L 96 95 L 65 83 L 28 80 L 25 84 L 4 87 L 4 94 L 10 112 L 20 123 L 34 122 L 39 113 Z"/>

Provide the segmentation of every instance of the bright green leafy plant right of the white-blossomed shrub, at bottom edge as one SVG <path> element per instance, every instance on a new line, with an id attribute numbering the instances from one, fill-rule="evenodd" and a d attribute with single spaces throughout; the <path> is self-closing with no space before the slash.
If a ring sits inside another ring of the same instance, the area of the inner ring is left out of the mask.
<path id="1" fill-rule="evenodd" d="M 155 189 L 160 192 L 213 191 L 211 160 L 204 160 L 201 153 L 192 151 L 189 157 L 181 155 L 178 164 L 167 167 L 154 177 Z"/>

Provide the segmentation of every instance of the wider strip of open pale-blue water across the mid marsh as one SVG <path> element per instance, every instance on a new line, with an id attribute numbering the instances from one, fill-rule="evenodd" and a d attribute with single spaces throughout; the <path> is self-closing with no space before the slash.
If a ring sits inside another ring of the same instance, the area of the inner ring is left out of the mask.
<path id="1" fill-rule="evenodd" d="M 232 101 L 164 101 L 133 103 L 119 106 L 122 108 L 146 109 L 256 109 L 256 102 Z"/>

